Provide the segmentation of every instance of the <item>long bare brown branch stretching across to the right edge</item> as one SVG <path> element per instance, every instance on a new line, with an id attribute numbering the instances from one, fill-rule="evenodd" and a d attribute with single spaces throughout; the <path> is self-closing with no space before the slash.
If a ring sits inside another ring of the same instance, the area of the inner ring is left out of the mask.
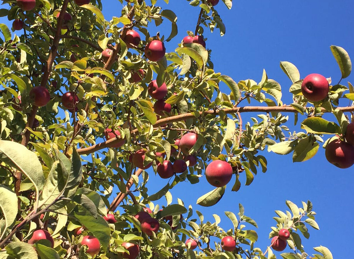
<path id="1" fill-rule="evenodd" d="M 343 112 L 346 111 L 354 111 L 354 106 L 350 107 L 338 107 L 338 110 L 341 110 Z M 234 108 L 227 108 L 227 109 L 222 109 L 222 110 L 207 110 L 207 111 L 200 111 L 199 115 L 200 116 L 205 116 L 208 114 L 215 115 L 217 116 L 220 111 L 224 111 L 226 114 L 232 114 L 232 113 L 249 113 L 249 112 L 264 112 L 264 113 L 271 113 L 271 112 L 281 112 L 281 113 L 298 113 L 298 111 L 291 107 L 290 105 L 288 106 L 274 106 L 274 107 L 263 107 L 263 106 L 245 106 L 245 107 L 234 107 Z M 322 108 L 321 109 L 322 113 L 331 113 L 331 111 L 327 111 L 326 109 Z M 176 116 L 171 116 L 167 117 L 164 119 L 160 119 L 156 121 L 154 124 L 154 127 L 158 127 L 161 125 L 164 125 L 166 123 L 171 123 L 171 122 L 176 122 L 176 121 L 182 121 L 186 119 L 194 119 L 196 116 L 192 113 L 184 113 L 184 114 L 179 114 Z M 138 130 L 133 129 L 132 134 L 135 134 Z M 98 150 L 104 149 L 109 147 L 112 144 L 115 144 L 116 142 L 119 141 L 121 136 L 118 136 L 116 138 L 111 138 L 105 142 L 90 146 L 88 148 L 80 148 L 78 149 L 78 154 L 79 155 L 87 155 L 91 154 L 93 152 L 96 152 Z"/>

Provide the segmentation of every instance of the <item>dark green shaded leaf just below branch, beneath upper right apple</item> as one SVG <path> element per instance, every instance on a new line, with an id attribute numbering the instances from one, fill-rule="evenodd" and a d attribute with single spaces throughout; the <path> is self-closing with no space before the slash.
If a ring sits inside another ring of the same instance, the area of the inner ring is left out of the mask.
<path id="1" fill-rule="evenodd" d="M 341 128 L 335 123 L 320 117 L 307 118 L 301 123 L 301 128 L 308 133 L 316 134 L 341 134 Z"/>

